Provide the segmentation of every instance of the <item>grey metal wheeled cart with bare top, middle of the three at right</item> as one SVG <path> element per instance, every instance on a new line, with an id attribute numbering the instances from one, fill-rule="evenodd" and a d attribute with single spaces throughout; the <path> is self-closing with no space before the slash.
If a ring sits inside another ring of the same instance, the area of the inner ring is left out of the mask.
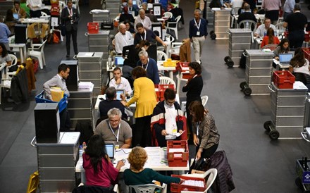
<path id="1" fill-rule="evenodd" d="M 260 49 L 246 49 L 245 82 L 240 83 L 244 95 L 270 94 L 268 85 L 271 82 L 273 52 Z"/>

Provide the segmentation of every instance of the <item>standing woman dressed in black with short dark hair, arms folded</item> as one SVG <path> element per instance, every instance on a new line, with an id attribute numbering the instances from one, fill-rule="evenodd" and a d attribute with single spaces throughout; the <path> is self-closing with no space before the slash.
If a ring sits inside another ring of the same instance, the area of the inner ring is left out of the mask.
<path id="1" fill-rule="evenodd" d="M 190 103 L 192 101 L 202 101 L 200 94 L 202 93 L 202 87 L 204 87 L 204 82 L 202 81 L 202 66 L 197 62 L 191 62 L 190 67 L 190 77 L 187 80 L 186 85 L 182 88 L 182 92 L 186 93 L 186 115 L 187 115 L 187 130 L 190 131 L 190 140 L 192 140 L 192 116 L 190 115 Z"/>

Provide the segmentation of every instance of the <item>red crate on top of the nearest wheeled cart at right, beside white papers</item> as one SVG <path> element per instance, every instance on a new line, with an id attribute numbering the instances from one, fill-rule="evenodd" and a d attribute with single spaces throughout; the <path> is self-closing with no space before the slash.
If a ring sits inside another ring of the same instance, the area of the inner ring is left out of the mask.
<path id="1" fill-rule="evenodd" d="M 290 71 L 274 71 L 273 83 L 278 89 L 292 89 L 295 77 Z"/>

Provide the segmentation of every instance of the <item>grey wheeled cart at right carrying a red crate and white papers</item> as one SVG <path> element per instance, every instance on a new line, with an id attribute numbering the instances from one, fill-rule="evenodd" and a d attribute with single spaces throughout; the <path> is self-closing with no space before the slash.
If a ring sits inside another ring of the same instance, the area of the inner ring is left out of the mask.
<path id="1" fill-rule="evenodd" d="M 271 82 L 271 120 L 263 124 L 271 139 L 302 139 L 307 92 L 306 86 L 302 88 L 278 89 Z"/>

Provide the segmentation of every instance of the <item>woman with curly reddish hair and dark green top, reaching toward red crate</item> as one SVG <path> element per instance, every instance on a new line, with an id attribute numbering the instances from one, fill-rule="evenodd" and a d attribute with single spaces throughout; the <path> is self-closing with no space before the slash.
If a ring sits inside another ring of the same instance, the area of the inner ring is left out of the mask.
<path id="1" fill-rule="evenodd" d="M 180 178 L 161 175 L 151 168 L 143 168 L 147 161 L 147 152 L 142 147 L 134 147 L 128 156 L 130 169 L 124 171 L 125 185 L 151 184 L 153 180 L 170 184 L 179 183 Z"/>

